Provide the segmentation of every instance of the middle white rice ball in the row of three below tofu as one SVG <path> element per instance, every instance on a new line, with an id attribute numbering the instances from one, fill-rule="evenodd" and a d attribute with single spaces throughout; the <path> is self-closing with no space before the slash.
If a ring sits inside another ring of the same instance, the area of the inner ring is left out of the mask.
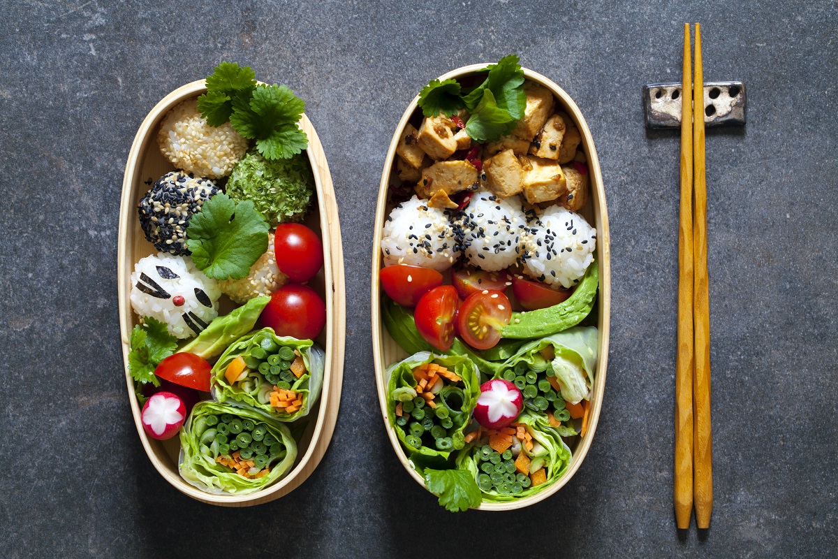
<path id="1" fill-rule="evenodd" d="M 526 227 L 518 196 L 500 199 L 487 191 L 475 192 L 463 209 L 460 223 L 463 253 L 469 264 L 486 272 L 515 265 L 520 235 Z"/>

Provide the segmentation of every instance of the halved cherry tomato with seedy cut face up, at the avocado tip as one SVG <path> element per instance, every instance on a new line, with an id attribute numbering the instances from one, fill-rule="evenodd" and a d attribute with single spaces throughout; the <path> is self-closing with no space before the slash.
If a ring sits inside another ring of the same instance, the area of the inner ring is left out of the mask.
<path id="1" fill-rule="evenodd" d="M 503 292 L 476 292 L 463 301 L 457 329 L 466 344 L 489 349 L 500 341 L 500 330 L 512 319 L 512 303 Z"/>

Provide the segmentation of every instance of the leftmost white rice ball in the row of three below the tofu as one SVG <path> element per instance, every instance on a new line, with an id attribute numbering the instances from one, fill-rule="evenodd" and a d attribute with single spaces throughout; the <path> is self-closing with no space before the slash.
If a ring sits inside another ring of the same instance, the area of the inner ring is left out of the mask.
<path id="1" fill-rule="evenodd" d="M 444 272 L 460 256 L 456 244 L 446 213 L 413 196 L 391 211 L 384 224 L 381 251 L 385 266 L 406 264 Z"/>

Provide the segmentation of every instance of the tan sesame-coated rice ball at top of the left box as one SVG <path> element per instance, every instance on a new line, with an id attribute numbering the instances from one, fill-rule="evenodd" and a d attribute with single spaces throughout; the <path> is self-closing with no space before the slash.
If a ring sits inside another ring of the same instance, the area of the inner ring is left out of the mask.
<path id="1" fill-rule="evenodd" d="M 160 123 L 158 145 L 172 164 L 186 173 L 221 179 L 245 156 L 247 140 L 230 122 L 211 127 L 198 111 L 198 101 L 178 103 Z"/>

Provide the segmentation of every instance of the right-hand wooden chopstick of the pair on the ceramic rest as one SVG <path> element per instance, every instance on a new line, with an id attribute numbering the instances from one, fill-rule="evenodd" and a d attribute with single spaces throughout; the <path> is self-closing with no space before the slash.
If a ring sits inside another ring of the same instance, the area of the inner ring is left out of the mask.
<path id="1" fill-rule="evenodd" d="M 710 304 L 707 280 L 707 183 L 704 153 L 704 72 L 701 68 L 701 25 L 696 23 L 696 72 L 693 77 L 693 153 L 694 194 L 693 218 L 693 324 L 695 329 L 696 365 L 693 376 L 693 411 L 695 433 L 693 443 L 693 494 L 696 525 L 710 527 L 713 510 L 713 444 L 710 422 Z"/>

